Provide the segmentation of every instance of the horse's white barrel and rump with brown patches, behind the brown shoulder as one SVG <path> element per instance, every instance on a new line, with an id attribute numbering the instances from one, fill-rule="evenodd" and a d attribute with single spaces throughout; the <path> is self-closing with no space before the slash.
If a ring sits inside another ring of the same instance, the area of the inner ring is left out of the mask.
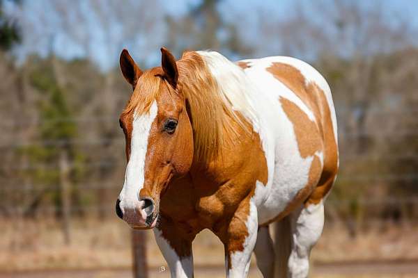
<path id="1" fill-rule="evenodd" d="M 270 179 L 256 194 L 259 220 L 270 222 L 302 202 L 317 204 L 332 187 L 338 168 L 334 104 L 323 76 L 302 60 L 272 56 L 238 65 L 256 84 L 261 103 L 255 105 Z"/>

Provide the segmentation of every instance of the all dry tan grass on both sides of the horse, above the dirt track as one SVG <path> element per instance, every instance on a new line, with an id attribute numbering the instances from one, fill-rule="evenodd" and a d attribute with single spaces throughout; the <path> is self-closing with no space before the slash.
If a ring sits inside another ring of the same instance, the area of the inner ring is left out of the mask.
<path id="1" fill-rule="evenodd" d="M 0 227 L 0 271 L 129 268 L 132 263 L 130 229 L 114 218 L 73 220 L 72 242 L 68 246 L 54 220 L 1 220 Z M 321 262 L 418 259 L 415 228 L 369 229 L 353 239 L 341 227 L 327 227 L 312 258 Z M 147 236 L 150 268 L 166 265 L 152 232 L 148 231 Z M 195 265 L 224 264 L 222 243 L 210 231 L 199 234 L 193 248 Z"/>

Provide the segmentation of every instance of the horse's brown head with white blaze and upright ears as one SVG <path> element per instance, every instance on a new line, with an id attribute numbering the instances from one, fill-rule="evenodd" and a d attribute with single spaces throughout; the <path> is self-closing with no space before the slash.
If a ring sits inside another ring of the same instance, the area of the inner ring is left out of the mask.
<path id="1" fill-rule="evenodd" d="M 189 171 L 193 159 L 192 126 L 178 83 L 178 68 L 162 48 L 162 66 L 141 72 L 130 54 L 121 54 L 121 70 L 134 89 L 121 114 L 127 167 L 116 213 L 131 227 L 155 227 L 160 196 L 172 177 Z"/>

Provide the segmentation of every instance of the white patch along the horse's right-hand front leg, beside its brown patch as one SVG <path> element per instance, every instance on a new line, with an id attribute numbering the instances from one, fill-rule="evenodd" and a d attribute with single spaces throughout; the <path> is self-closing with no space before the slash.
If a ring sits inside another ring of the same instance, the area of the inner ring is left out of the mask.
<path id="1" fill-rule="evenodd" d="M 242 278 L 248 275 L 249 263 L 251 262 L 251 254 L 256 245 L 258 229 L 257 208 L 253 198 L 249 201 L 249 215 L 245 226 L 247 227 L 248 236 L 242 245 L 244 250 L 231 254 L 231 267 L 229 267 L 228 260 L 226 260 L 226 277 L 228 278 Z"/>

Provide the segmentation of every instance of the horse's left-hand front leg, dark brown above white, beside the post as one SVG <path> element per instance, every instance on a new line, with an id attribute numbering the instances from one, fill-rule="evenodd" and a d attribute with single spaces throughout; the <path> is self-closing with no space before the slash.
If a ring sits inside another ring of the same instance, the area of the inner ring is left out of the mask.
<path id="1" fill-rule="evenodd" d="M 192 238 L 185 236 L 173 224 L 154 228 L 155 240 L 169 265 L 172 278 L 193 277 Z"/>

